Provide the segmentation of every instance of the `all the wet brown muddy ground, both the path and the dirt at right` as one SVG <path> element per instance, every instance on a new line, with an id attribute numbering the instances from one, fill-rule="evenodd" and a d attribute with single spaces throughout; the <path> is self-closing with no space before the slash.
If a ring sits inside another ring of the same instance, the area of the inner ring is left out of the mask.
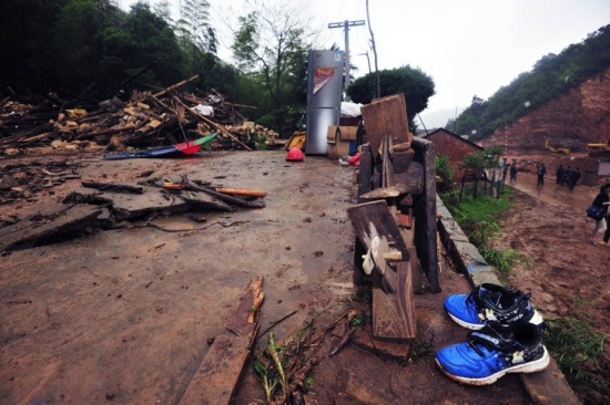
<path id="1" fill-rule="evenodd" d="M 278 340 L 314 328 L 329 331 L 346 309 L 360 305 L 352 285 L 355 237 L 346 212 L 355 204 L 354 168 L 324 157 L 304 163 L 284 157 L 284 152 L 114 162 L 73 156 L 68 159 L 80 178 L 30 201 L 0 206 L 0 217 L 24 217 L 61 201 L 81 180 L 136 180 L 149 170 L 267 191 L 265 208 L 209 212 L 204 224 L 173 215 L 155 219 L 159 228 L 93 232 L 0 257 L 0 403 L 177 404 L 254 276 L 264 277 L 261 331 L 273 326 Z M 50 157 L 19 162 L 41 159 Z M 527 209 L 507 218 L 502 243 L 531 255 L 537 266 L 518 269 L 510 281 L 532 291 L 549 314 L 569 314 L 573 297 L 581 297 L 592 303 L 596 326 L 608 332 L 608 287 L 599 280 L 608 273 L 610 248 L 587 245 L 591 224 L 580 208 L 520 194 L 517 202 Z M 467 387 L 436 370 L 434 351 L 466 336 L 443 313 L 443 300 L 470 288 L 448 266 L 440 281 L 441 293 L 416 297 L 418 342 L 428 344 L 418 359 L 380 359 L 353 345 L 329 357 L 335 340 L 328 332 L 309 347 L 319 362 L 311 372 L 307 403 L 478 404 L 490 397 L 529 403 L 516 375 Z M 250 362 L 235 403 L 262 399 Z"/>

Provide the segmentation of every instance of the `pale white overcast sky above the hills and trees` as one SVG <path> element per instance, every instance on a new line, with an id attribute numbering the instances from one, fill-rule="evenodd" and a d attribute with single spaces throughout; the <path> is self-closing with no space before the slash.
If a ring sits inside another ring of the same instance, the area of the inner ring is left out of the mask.
<path id="1" fill-rule="evenodd" d="M 211 23 L 231 58 L 232 15 L 245 0 L 209 0 Z M 293 0 L 266 0 L 293 1 Z M 125 9 L 134 0 L 121 0 Z M 155 0 L 149 0 L 152 4 Z M 170 0 L 179 4 L 180 0 Z M 343 29 L 328 23 L 366 21 L 366 0 L 308 0 L 321 31 L 322 49 L 344 49 Z M 436 84 L 425 113 L 467 107 L 474 95 L 489 98 L 543 55 L 558 54 L 572 43 L 610 23 L 610 0 L 369 0 L 379 69 L 419 68 Z M 234 27 L 234 24 L 233 24 Z M 356 76 L 368 73 L 368 27 L 349 30 Z"/>

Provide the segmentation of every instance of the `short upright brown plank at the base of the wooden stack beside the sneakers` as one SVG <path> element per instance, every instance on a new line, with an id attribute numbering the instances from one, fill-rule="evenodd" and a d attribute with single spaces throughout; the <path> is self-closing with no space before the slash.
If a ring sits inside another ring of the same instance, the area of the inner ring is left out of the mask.
<path id="1" fill-rule="evenodd" d="M 396 269 L 396 293 L 380 288 L 382 278 L 373 277 L 373 336 L 407 340 L 416 336 L 415 300 L 409 261 L 399 261 Z"/>

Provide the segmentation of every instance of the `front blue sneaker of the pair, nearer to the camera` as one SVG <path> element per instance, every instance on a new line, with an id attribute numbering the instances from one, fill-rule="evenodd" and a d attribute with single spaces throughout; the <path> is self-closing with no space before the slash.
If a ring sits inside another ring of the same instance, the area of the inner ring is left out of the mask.
<path id="1" fill-rule="evenodd" d="M 549 365 L 540 329 L 490 323 L 468 332 L 468 341 L 436 353 L 436 364 L 449 378 L 468 385 L 489 385 L 508 373 L 535 373 Z"/>

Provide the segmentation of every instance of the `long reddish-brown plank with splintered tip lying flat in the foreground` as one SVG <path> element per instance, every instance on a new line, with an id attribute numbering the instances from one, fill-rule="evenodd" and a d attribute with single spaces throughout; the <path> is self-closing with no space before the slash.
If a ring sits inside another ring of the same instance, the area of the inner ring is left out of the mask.
<path id="1" fill-rule="evenodd" d="M 258 332 L 255 315 L 263 299 L 263 278 L 255 277 L 235 305 L 224 330 L 215 336 L 180 404 L 231 403 Z"/>

